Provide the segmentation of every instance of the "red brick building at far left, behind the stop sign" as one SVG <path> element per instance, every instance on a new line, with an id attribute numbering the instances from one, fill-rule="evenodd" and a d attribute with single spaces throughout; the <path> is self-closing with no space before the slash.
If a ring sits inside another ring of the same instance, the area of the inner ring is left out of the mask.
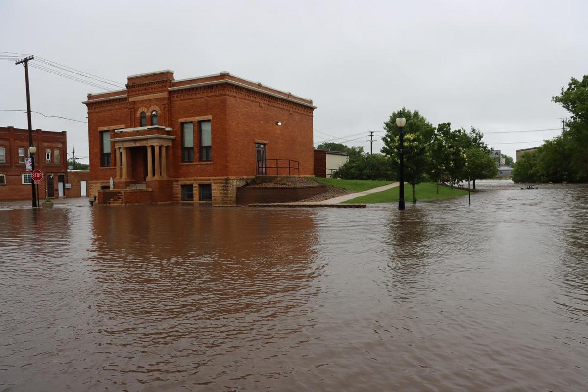
<path id="1" fill-rule="evenodd" d="M 35 169 L 44 174 L 39 199 L 66 197 L 66 132 L 36 129 L 32 133 Z M 31 172 L 26 170 L 25 158 L 29 158 L 28 130 L 0 127 L 0 201 L 31 199 Z"/>

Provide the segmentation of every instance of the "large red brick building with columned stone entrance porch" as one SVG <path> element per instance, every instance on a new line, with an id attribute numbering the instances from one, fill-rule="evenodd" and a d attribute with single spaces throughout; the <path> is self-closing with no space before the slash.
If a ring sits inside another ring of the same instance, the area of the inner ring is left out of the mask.
<path id="1" fill-rule="evenodd" d="M 230 205 L 258 173 L 313 175 L 312 100 L 228 72 L 181 81 L 143 73 L 83 103 L 89 196 L 100 203 Z M 116 190 L 99 192 L 111 178 Z"/>

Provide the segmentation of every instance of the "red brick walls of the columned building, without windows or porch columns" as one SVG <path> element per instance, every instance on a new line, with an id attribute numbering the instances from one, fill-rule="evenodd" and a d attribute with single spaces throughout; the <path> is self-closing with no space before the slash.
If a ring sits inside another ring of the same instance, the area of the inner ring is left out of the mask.
<path id="1" fill-rule="evenodd" d="M 215 85 L 193 86 L 188 89 L 170 87 L 185 86 L 206 81 L 220 82 Z M 126 95 L 126 96 L 125 96 Z M 119 98 L 116 98 L 119 96 Z M 122 97 L 121 97 L 122 96 Z M 282 97 L 282 98 L 280 98 Z M 290 159 L 300 162 L 300 175 L 313 175 L 313 108 L 312 101 L 298 98 L 290 93 L 276 91 L 266 86 L 244 81 L 225 73 L 195 81 L 174 82 L 168 71 L 141 75 L 128 80 L 128 89 L 117 93 L 90 95 L 88 105 L 88 140 L 91 180 L 95 182 L 89 194 L 92 196 L 98 183 L 108 183 L 116 178 L 118 154 L 115 153 L 116 128 L 139 127 L 139 113 L 146 112 L 147 125 L 152 109 L 158 110 L 158 125 L 170 131 L 140 130 L 117 133 L 117 137 L 141 137 L 146 135 L 175 136 L 166 153 L 168 177 L 173 180 L 168 188 L 155 192 L 155 200 L 169 198 L 179 201 L 180 184 L 183 182 L 212 184 L 213 203 L 235 202 L 236 187 L 256 175 L 255 143 L 266 144 L 267 159 Z M 112 98 L 104 99 L 103 98 Z M 100 99 L 93 103 L 92 100 Z M 212 161 L 201 162 L 199 121 L 211 120 Z M 192 122 L 194 130 L 194 162 L 182 162 L 182 122 Z M 282 125 L 276 125 L 281 122 Z M 100 132 L 108 130 L 111 135 L 111 162 L 101 167 Z M 139 139 L 137 139 L 139 140 Z M 141 148 L 129 148 L 129 174 L 134 181 L 142 180 L 144 165 Z M 290 172 L 297 175 L 297 170 Z M 272 173 L 268 173 L 272 174 Z M 282 169 L 280 175 L 288 175 Z M 198 187 L 195 186 L 195 197 Z"/>

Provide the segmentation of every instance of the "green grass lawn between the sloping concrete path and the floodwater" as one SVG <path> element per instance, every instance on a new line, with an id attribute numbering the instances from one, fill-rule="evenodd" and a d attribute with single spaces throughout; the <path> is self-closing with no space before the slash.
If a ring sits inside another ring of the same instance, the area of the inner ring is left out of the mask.
<path id="1" fill-rule="evenodd" d="M 345 203 L 391 203 L 397 202 L 400 195 L 400 187 L 393 187 L 392 189 L 383 190 L 382 192 L 370 193 L 369 195 L 356 197 Z M 417 202 L 420 200 L 435 200 L 435 199 L 450 199 L 451 197 L 467 195 L 467 189 L 458 189 L 457 187 L 451 189 L 446 186 L 439 186 L 439 194 L 437 195 L 437 185 L 432 182 L 423 182 L 415 186 L 415 196 Z M 405 184 L 405 202 L 412 203 L 412 186 Z"/>

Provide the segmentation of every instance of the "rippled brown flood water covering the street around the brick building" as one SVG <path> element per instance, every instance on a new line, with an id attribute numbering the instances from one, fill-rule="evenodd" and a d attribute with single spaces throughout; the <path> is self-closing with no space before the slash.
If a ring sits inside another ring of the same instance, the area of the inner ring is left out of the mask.
<path id="1" fill-rule="evenodd" d="M 586 391 L 588 188 L 0 209 L 1 391 Z"/>

